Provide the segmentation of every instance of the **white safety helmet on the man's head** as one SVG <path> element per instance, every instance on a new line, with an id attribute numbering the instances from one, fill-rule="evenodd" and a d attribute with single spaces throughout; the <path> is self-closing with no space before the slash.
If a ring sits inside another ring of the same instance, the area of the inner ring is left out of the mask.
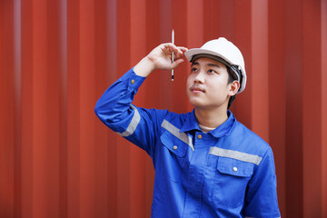
<path id="1" fill-rule="evenodd" d="M 235 45 L 233 45 L 233 43 L 223 37 L 220 37 L 205 43 L 201 48 L 193 48 L 185 52 L 186 59 L 189 62 L 193 61 L 194 55 L 206 56 L 205 54 L 218 56 L 222 58 L 223 61 L 227 62 L 228 66 L 233 66 L 231 68 L 237 75 L 238 81 L 240 82 L 240 89 L 237 93 L 242 93 L 246 85 L 246 74 L 244 59 L 241 51 Z"/>

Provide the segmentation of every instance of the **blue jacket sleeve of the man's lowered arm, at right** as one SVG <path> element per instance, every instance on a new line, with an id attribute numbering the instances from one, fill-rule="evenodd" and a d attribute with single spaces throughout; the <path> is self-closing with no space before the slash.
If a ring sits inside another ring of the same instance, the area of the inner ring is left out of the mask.
<path id="1" fill-rule="evenodd" d="M 268 147 L 246 191 L 245 217 L 281 217 L 272 148 Z"/>

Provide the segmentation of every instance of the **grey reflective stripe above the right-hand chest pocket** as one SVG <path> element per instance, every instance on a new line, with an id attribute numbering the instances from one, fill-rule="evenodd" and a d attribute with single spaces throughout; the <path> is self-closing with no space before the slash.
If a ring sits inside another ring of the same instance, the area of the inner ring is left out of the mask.
<path id="1" fill-rule="evenodd" d="M 233 159 L 243 161 L 243 162 L 254 163 L 256 165 L 259 165 L 259 163 L 263 159 L 262 157 L 260 157 L 258 155 L 246 154 L 246 153 L 223 149 L 223 148 L 219 148 L 219 147 L 211 147 L 209 154 L 213 154 L 216 156 L 222 156 L 222 157 L 229 157 L 229 158 L 233 158 Z"/>

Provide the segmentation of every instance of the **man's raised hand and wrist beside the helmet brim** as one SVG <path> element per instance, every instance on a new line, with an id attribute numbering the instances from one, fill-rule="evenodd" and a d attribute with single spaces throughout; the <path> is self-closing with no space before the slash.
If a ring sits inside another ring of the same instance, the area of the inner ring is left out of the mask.
<path id="1" fill-rule="evenodd" d="M 183 53 L 186 51 L 187 48 L 171 43 L 159 45 L 134 66 L 134 72 L 146 77 L 155 69 L 171 70 L 183 62 Z M 172 54 L 174 54 L 173 63 Z"/>

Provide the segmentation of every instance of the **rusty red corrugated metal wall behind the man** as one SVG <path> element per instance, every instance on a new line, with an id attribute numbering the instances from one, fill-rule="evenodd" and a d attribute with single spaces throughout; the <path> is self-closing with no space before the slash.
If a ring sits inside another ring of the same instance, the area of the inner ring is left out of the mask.
<path id="1" fill-rule="evenodd" d="M 154 46 L 243 51 L 239 121 L 272 146 L 282 217 L 327 217 L 326 0 L 0 1 L 0 217 L 149 217 L 154 169 L 94 104 Z M 192 109 L 183 64 L 139 106 Z"/>

